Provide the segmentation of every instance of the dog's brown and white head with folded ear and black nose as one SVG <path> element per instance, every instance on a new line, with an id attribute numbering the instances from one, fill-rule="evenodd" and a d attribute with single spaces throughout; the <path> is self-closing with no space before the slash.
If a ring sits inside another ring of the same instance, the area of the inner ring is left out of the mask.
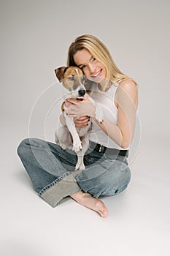
<path id="1" fill-rule="evenodd" d="M 85 75 L 79 67 L 58 67 L 55 69 L 55 74 L 63 86 L 69 90 L 74 98 L 85 96 Z"/>

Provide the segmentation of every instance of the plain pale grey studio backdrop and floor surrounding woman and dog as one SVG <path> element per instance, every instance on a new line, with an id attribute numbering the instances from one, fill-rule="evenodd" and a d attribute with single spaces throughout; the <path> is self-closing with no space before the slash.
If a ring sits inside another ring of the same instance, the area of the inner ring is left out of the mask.
<path id="1" fill-rule="evenodd" d="M 170 2 L 0 1 L 1 255 L 170 255 Z M 104 198 L 101 219 L 73 200 L 50 208 L 36 196 L 16 148 L 54 140 L 62 89 L 53 69 L 70 43 L 93 34 L 139 83 L 132 180 Z"/>

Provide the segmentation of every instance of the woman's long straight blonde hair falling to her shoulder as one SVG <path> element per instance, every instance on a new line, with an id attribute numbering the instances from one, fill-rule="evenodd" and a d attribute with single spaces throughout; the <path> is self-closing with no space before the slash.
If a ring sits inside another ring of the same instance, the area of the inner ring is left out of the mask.
<path id="1" fill-rule="evenodd" d="M 104 64 L 104 67 L 107 70 L 107 80 L 111 80 L 113 83 L 120 83 L 121 80 L 131 79 L 118 69 L 104 43 L 89 34 L 77 37 L 70 45 L 67 57 L 68 66 L 77 66 L 74 62 L 74 54 L 77 53 L 78 50 L 84 48 L 87 49 L 93 57 Z"/>

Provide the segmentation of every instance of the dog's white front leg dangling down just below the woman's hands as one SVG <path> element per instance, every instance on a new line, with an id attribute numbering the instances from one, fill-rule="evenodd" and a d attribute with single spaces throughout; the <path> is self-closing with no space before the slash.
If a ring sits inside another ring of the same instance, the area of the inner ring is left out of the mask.
<path id="1" fill-rule="evenodd" d="M 81 140 L 80 140 L 79 135 L 77 133 L 75 124 L 74 124 L 74 118 L 66 116 L 66 125 L 69 129 L 69 132 L 72 135 L 72 140 L 73 140 L 72 150 L 77 153 L 80 150 L 82 150 L 82 143 L 81 143 Z"/>

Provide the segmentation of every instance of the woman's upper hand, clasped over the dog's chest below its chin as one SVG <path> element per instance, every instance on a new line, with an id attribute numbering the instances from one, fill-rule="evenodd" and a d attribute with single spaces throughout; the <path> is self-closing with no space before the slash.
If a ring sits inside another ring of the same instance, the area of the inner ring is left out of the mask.
<path id="1" fill-rule="evenodd" d="M 95 107 L 87 97 L 82 97 L 81 100 L 66 99 L 65 106 L 65 113 L 75 119 L 79 119 L 84 116 L 95 116 Z"/>

